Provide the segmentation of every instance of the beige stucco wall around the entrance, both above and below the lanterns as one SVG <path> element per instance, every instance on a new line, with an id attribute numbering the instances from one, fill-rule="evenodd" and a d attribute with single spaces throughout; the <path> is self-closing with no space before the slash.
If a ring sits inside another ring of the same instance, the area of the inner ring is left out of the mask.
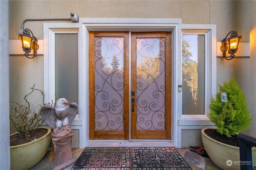
<path id="1" fill-rule="evenodd" d="M 10 0 L 9 39 L 18 39 L 21 22 L 26 18 L 70 18 L 70 12 L 74 12 L 80 18 L 181 18 L 182 24 L 216 24 L 217 41 L 236 30 L 242 41 L 249 42 L 249 5 L 244 0 Z M 24 27 L 43 39 L 43 22 L 50 21 L 30 21 Z M 218 57 L 216 83 L 235 75 L 248 100 L 249 63 L 248 57 L 231 61 Z M 43 88 L 43 56 L 36 59 L 26 59 L 23 54 L 10 56 L 10 100 L 22 100 L 34 83 Z M 182 137 L 185 136 L 184 133 Z"/>

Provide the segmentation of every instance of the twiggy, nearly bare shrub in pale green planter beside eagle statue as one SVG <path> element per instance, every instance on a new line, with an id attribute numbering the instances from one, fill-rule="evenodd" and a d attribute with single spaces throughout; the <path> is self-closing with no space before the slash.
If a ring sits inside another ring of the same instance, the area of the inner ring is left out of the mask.
<path id="1" fill-rule="evenodd" d="M 51 129 L 41 127 L 43 119 L 40 108 L 45 105 L 44 92 L 35 88 L 24 97 L 26 105 L 11 102 L 10 108 L 10 164 L 11 170 L 27 170 L 44 158 L 51 142 Z M 42 95 L 42 104 L 30 106 L 28 96 L 38 91 Z"/>

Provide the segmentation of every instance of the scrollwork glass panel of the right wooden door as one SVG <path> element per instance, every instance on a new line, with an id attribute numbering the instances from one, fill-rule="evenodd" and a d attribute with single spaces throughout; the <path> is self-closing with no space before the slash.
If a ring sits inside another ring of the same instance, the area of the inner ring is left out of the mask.
<path id="1" fill-rule="evenodd" d="M 137 39 L 137 129 L 165 128 L 165 39 Z"/>

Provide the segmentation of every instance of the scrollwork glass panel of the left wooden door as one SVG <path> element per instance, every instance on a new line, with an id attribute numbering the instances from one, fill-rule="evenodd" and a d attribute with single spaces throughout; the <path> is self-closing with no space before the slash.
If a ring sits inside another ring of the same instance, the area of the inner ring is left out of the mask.
<path id="1" fill-rule="evenodd" d="M 95 39 L 95 130 L 123 130 L 124 39 Z"/>

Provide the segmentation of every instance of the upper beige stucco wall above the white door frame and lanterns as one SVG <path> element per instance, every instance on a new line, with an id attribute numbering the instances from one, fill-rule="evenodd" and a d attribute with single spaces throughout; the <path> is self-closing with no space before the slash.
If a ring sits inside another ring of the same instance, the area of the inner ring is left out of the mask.
<path id="1" fill-rule="evenodd" d="M 236 30 L 248 42 L 249 4 L 244 0 L 11 0 L 9 38 L 18 39 L 26 18 L 70 18 L 74 12 L 80 18 L 181 18 L 186 24 L 216 24 L 217 41 Z M 27 22 L 25 27 L 42 39 L 43 22 L 48 21 Z"/>

